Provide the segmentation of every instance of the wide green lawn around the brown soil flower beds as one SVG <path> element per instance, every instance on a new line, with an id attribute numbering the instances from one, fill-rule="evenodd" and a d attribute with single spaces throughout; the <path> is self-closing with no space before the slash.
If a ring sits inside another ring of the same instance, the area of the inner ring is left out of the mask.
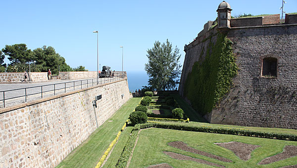
<path id="1" fill-rule="evenodd" d="M 186 152 L 168 146 L 167 143 L 172 141 L 185 142 L 192 148 L 217 156 L 225 157 L 232 160 L 233 163 L 225 163 L 216 159 L 208 158 L 202 155 Z M 249 160 L 243 161 L 238 158 L 232 151 L 214 144 L 217 142 L 232 141 L 260 145 L 261 147 L 255 149 L 252 152 L 251 158 Z M 261 160 L 281 153 L 285 145 L 297 146 L 297 142 L 228 134 L 149 128 L 141 130 L 139 134 L 139 140 L 134 150 L 129 168 L 146 168 L 150 165 L 161 163 L 167 163 L 174 168 L 213 168 L 194 161 L 180 161 L 172 159 L 171 157 L 163 154 L 163 151 L 175 152 L 193 158 L 206 160 L 215 164 L 223 165 L 227 168 L 280 168 L 283 166 L 296 165 L 297 157 L 289 158 L 268 165 L 257 165 L 257 163 Z"/>

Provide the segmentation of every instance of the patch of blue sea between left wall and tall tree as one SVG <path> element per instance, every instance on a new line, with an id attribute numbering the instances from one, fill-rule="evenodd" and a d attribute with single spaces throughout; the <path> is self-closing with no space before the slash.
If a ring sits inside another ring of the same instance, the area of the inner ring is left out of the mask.
<path id="1" fill-rule="evenodd" d="M 142 86 L 148 86 L 148 75 L 146 71 L 127 71 L 128 85 L 131 93 Z"/>

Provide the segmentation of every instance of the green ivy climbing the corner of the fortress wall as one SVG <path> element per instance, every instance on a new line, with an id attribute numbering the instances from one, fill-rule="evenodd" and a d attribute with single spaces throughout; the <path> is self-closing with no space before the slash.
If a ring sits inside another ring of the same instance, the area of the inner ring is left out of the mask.
<path id="1" fill-rule="evenodd" d="M 200 114 L 209 113 L 230 90 L 232 78 L 237 74 L 232 42 L 217 33 L 217 41 L 206 48 L 205 60 L 194 63 L 185 83 L 185 96 Z M 204 54 L 202 49 L 200 57 Z"/>

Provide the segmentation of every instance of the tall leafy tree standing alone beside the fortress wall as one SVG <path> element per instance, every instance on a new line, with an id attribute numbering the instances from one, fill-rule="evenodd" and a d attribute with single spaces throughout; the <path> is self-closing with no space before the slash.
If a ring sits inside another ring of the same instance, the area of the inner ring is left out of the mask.
<path id="1" fill-rule="evenodd" d="M 173 51 L 172 44 L 167 39 L 163 44 L 155 42 L 147 52 L 148 63 L 145 70 L 149 77 L 148 84 L 156 90 L 174 89 L 181 74 L 181 55 L 177 46 Z"/>

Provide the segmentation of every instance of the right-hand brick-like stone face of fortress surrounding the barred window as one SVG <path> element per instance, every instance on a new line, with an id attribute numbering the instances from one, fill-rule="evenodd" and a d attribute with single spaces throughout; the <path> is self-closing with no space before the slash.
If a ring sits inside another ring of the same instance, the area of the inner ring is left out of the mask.
<path id="1" fill-rule="evenodd" d="M 231 29 L 227 37 L 234 42 L 240 69 L 234 123 L 297 129 L 297 25 Z M 265 57 L 278 59 L 276 78 L 261 76 Z"/>

